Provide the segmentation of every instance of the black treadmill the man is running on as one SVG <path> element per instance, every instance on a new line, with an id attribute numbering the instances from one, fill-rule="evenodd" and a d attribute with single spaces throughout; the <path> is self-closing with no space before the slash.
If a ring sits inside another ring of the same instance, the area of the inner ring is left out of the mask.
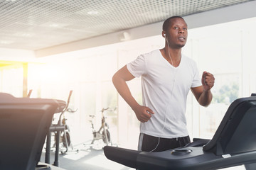
<path id="1" fill-rule="evenodd" d="M 238 98 L 225 113 L 212 140 L 196 139 L 164 152 L 104 147 L 107 159 L 135 169 L 204 170 L 245 165 L 256 169 L 256 95 Z"/>

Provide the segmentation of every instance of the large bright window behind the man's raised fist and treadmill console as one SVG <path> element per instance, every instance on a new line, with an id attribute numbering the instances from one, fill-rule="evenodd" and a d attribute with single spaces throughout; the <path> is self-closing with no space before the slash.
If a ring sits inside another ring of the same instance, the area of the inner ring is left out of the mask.
<path id="1" fill-rule="evenodd" d="M 201 72 L 206 70 L 215 76 L 210 106 L 197 109 L 197 103 L 191 102 L 193 110 L 187 115 L 192 111 L 188 119 L 192 137 L 211 138 L 230 103 L 255 93 L 255 21 L 250 18 L 189 30 L 184 53 L 196 60 Z"/>

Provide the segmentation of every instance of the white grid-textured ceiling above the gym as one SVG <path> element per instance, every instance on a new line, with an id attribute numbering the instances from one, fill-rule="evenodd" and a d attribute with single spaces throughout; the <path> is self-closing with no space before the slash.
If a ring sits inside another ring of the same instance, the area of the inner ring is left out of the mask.
<path id="1" fill-rule="evenodd" d="M 250 0 L 0 0 L 0 47 L 40 50 Z"/>

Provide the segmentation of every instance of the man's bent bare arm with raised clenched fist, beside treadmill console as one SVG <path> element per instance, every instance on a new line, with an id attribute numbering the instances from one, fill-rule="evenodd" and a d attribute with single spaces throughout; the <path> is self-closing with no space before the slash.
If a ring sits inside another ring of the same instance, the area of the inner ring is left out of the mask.
<path id="1" fill-rule="evenodd" d="M 213 99 L 210 89 L 214 86 L 215 78 L 209 72 L 203 72 L 202 86 L 191 88 L 193 95 L 201 106 L 208 106 Z"/>

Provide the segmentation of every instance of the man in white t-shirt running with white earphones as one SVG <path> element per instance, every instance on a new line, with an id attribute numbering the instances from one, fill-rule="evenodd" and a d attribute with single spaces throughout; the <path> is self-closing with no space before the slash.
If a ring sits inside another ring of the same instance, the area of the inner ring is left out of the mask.
<path id="1" fill-rule="evenodd" d="M 190 142 L 185 117 L 189 89 L 201 106 L 208 106 L 213 98 L 213 74 L 203 72 L 200 77 L 196 63 L 181 55 L 188 37 L 184 19 L 166 19 L 162 36 L 166 42 L 163 49 L 140 55 L 112 78 L 141 122 L 138 149 L 146 152 L 161 152 Z M 142 77 L 143 106 L 135 101 L 126 83 L 134 77 Z"/>

